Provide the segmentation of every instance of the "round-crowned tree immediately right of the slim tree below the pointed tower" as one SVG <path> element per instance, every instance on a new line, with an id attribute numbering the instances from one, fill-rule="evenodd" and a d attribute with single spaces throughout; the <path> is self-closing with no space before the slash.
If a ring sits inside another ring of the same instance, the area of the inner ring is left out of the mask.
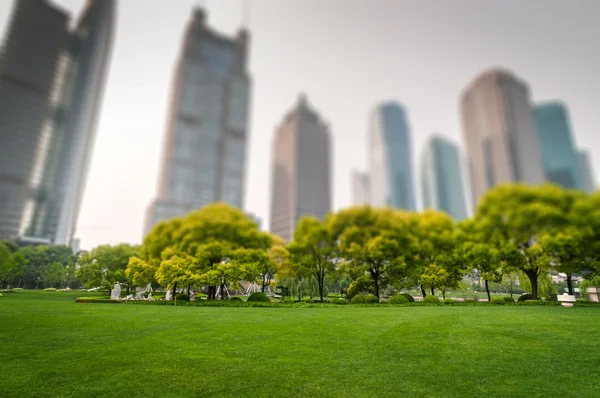
<path id="1" fill-rule="evenodd" d="M 410 245 L 406 215 L 369 206 L 342 210 L 330 220 L 330 241 L 339 242 L 342 265 L 354 279 L 367 274 L 374 293 L 404 270 Z"/>

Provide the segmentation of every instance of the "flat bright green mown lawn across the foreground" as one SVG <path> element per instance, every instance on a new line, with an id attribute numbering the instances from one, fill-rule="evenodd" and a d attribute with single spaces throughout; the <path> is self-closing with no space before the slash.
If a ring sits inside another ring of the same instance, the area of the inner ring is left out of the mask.
<path id="1" fill-rule="evenodd" d="M 0 396 L 600 396 L 599 308 L 210 308 L 77 295 L 0 297 Z"/>

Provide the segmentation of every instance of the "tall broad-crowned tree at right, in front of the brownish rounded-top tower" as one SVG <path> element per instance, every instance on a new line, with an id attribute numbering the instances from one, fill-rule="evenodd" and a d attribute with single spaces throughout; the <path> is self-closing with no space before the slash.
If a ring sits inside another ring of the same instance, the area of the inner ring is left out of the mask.
<path id="1" fill-rule="evenodd" d="M 546 271 L 537 241 L 565 224 L 565 199 L 563 189 L 554 185 L 500 185 L 486 193 L 474 217 L 483 240 L 500 251 L 505 264 L 527 275 L 534 299 L 538 277 Z"/>

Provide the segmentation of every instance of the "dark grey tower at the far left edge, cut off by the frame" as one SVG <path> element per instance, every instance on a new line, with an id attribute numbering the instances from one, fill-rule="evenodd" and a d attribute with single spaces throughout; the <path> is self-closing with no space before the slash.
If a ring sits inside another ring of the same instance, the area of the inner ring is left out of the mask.
<path id="1" fill-rule="evenodd" d="M 14 3 L 0 61 L 0 239 L 19 235 L 46 129 L 68 16 L 43 0 Z"/>

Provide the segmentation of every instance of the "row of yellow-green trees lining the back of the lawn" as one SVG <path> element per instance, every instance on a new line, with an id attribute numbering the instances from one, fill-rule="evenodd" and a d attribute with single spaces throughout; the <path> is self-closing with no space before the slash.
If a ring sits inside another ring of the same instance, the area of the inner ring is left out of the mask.
<path id="1" fill-rule="evenodd" d="M 388 285 L 418 287 L 425 296 L 458 286 L 476 270 L 485 281 L 526 275 L 531 294 L 549 271 L 592 277 L 600 259 L 600 196 L 554 185 L 505 185 L 488 192 L 473 218 L 456 224 L 442 212 L 369 206 L 299 221 L 287 246 L 261 232 L 244 213 L 214 204 L 157 225 L 125 276 L 133 284 L 217 290 L 239 280 L 263 290 L 279 281 L 314 281 L 321 299 L 326 281 L 349 278 L 350 292 L 380 296 Z"/>

